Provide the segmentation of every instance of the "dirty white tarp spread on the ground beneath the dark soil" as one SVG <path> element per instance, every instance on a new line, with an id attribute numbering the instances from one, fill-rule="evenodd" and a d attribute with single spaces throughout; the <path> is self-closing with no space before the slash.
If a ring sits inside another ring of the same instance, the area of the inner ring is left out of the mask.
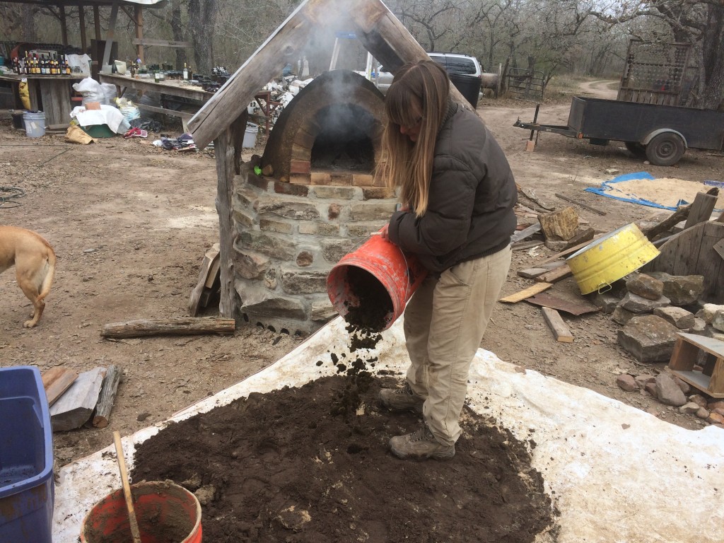
<path id="1" fill-rule="evenodd" d="M 284 358 L 205 398 L 172 420 L 226 405 L 250 392 L 299 386 L 334 374 L 329 352 L 347 345 L 335 319 Z M 380 367 L 405 371 L 408 359 L 397 321 L 377 346 Z M 558 543 L 720 543 L 724 526 L 724 430 L 691 431 L 617 400 L 536 371 L 523 371 L 479 350 L 471 367 L 471 408 L 492 416 L 515 437 L 534 439 L 533 466 L 560 517 Z M 124 439 L 129 469 L 135 444 L 151 426 Z M 532 432 L 531 432 L 532 431 Z M 56 484 L 54 543 L 76 543 L 83 516 L 120 477 L 109 447 L 64 466 Z M 455 460 L 452 460 L 454 462 Z M 202 521 L 203 522 L 203 521 Z M 540 543 L 550 542 L 540 536 Z"/>

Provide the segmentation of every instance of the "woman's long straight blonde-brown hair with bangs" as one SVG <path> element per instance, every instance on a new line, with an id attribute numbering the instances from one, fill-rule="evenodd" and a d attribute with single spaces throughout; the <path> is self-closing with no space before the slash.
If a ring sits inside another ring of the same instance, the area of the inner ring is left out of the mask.
<path id="1" fill-rule="evenodd" d="M 445 69 L 423 60 L 405 64 L 395 74 L 384 98 L 387 126 L 382 136 L 389 187 L 400 187 L 400 200 L 417 216 L 427 210 L 435 140 L 447 114 L 450 80 Z M 400 127 L 420 124 L 417 141 Z"/>

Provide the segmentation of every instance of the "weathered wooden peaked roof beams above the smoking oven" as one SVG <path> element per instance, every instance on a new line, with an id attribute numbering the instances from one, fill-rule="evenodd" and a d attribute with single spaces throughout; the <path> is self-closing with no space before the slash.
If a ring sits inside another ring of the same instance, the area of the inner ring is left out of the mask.
<path id="1" fill-rule="evenodd" d="M 189 130 L 206 147 L 245 111 L 269 80 L 293 64 L 321 28 L 350 30 L 372 56 L 393 73 L 405 62 L 429 59 L 425 50 L 380 0 L 305 0 L 194 115 Z M 453 96 L 466 103 L 451 85 Z"/>

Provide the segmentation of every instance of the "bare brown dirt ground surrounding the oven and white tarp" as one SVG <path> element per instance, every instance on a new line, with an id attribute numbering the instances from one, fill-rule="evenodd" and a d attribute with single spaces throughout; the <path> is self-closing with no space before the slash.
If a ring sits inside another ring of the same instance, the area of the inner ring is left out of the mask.
<path id="1" fill-rule="evenodd" d="M 611 83 L 589 83 L 578 92 L 615 97 Z M 571 95 L 573 96 L 573 95 Z M 542 105 L 539 122 L 565 124 L 570 99 Z M 499 140 L 521 187 L 560 209 L 566 195 L 606 212 L 578 208 L 598 232 L 608 232 L 661 211 L 584 193 L 620 174 L 645 170 L 655 177 L 703 181 L 721 179 L 724 157 L 688 151 L 673 168 L 634 159 L 623 144 L 607 147 L 560 135 L 542 134 L 534 152 L 525 151 L 529 132 L 513 127 L 531 120 L 534 104 L 485 98 L 479 114 Z M 180 135 L 180 130 L 168 135 Z M 123 371 L 111 424 L 54 434 L 59 466 L 113 442 L 113 430 L 132 434 L 207 395 L 264 368 L 295 348 L 303 338 L 242 325 L 232 336 L 177 336 L 104 340 L 104 324 L 133 319 L 186 316 L 203 254 L 217 241 L 214 209 L 216 167 L 213 151 L 164 151 L 148 140 L 100 139 L 89 146 L 64 143 L 62 135 L 29 139 L 0 117 L 0 186 L 25 195 L 0 206 L 0 224 L 41 233 L 58 255 L 53 289 L 43 319 L 23 329 L 30 304 L 17 288 L 14 273 L 0 275 L 0 364 L 33 364 L 41 371 L 67 366 L 86 371 L 116 364 Z M 257 138 L 260 152 L 264 138 Z M 7 194 L 7 192 L 5 193 Z M 504 294 L 529 286 L 515 271 L 550 256 L 539 247 L 516 251 Z M 572 279 L 568 279 L 571 283 Z M 572 288 L 575 285 L 571 284 Z M 206 314 L 217 314 L 213 309 Z M 618 325 L 609 316 L 564 315 L 573 343 L 552 337 L 540 309 L 529 303 L 500 304 L 482 347 L 502 360 L 656 413 L 686 428 L 702 422 L 615 385 L 621 372 L 652 373 L 665 364 L 641 364 L 616 342 Z"/>

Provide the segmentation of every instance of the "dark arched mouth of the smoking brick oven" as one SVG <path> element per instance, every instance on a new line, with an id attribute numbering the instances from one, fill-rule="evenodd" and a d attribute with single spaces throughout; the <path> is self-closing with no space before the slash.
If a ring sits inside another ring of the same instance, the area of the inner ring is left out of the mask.
<path id="1" fill-rule="evenodd" d="M 317 113 L 321 127 L 311 150 L 314 170 L 350 170 L 370 173 L 374 169 L 375 119 L 354 104 L 333 104 Z"/>

